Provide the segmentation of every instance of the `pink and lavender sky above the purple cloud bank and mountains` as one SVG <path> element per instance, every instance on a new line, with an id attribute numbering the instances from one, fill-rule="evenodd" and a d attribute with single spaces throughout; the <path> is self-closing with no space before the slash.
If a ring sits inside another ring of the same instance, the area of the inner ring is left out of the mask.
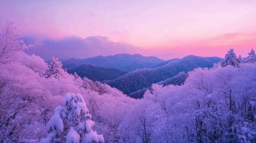
<path id="1" fill-rule="evenodd" d="M 160 58 L 188 54 L 243 56 L 256 48 L 256 1 L 0 1 L 0 27 L 16 21 L 24 35 L 106 36 Z"/>

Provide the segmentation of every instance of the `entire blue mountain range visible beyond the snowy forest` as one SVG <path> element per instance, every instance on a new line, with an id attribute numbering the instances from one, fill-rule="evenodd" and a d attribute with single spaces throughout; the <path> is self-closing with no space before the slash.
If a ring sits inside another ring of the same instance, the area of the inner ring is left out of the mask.
<path id="1" fill-rule="evenodd" d="M 132 98 L 142 98 L 153 83 L 160 85 L 181 85 L 187 72 L 197 67 L 212 67 L 220 62 L 218 57 L 189 55 L 168 61 L 140 54 L 117 54 L 86 59 L 61 60 L 68 73 L 107 83 Z"/>

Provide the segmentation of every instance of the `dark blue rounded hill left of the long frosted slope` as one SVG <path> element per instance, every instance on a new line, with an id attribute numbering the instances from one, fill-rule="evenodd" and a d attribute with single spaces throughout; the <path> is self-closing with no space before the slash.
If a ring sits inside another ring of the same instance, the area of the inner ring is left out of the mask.
<path id="1" fill-rule="evenodd" d="M 68 73 L 77 73 L 80 77 L 87 77 L 94 81 L 113 80 L 126 74 L 126 71 L 121 71 L 115 68 L 97 67 L 92 64 L 82 64 L 72 69 L 67 69 Z"/>

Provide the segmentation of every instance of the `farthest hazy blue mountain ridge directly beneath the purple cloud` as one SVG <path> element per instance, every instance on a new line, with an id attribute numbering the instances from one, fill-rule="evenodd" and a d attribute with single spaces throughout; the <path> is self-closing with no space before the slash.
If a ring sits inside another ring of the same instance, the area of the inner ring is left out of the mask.
<path id="1" fill-rule="evenodd" d="M 122 71 L 133 71 L 136 69 L 151 68 L 163 61 L 164 60 L 157 57 L 144 57 L 140 54 L 116 54 L 106 57 L 98 56 L 86 59 L 70 58 L 69 60 L 62 60 L 62 64 L 63 67 L 67 69 L 79 66 L 80 64 L 94 64 L 98 67 L 113 67 Z"/>

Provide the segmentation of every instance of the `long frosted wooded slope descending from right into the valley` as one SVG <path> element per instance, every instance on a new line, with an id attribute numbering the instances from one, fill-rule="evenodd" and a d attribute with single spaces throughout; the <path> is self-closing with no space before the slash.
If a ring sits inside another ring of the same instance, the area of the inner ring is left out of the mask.
<path id="1" fill-rule="evenodd" d="M 214 63 L 221 61 L 218 57 L 198 57 L 189 55 L 179 60 L 170 61 L 162 67 L 155 69 L 135 70 L 115 80 L 108 80 L 106 83 L 114 88 L 130 94 L 143 88 L 148 88 L 152 83 L 164 81 L 180 72 L 192 71 L 197 67 L 212 67 Z"/>

